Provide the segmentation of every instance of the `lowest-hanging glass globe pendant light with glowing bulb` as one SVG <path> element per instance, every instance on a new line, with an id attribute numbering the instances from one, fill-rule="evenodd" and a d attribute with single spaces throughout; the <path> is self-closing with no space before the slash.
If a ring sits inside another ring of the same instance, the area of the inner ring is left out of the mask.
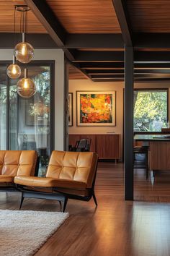
<path id="1" fill-rule="evenodd" d="M 22 98 L 31 98 L 36 93 L 35 83 L 27 78 L 27 69 L 24 69 L 24 78 L 17 82 L 17 93 Z"/>

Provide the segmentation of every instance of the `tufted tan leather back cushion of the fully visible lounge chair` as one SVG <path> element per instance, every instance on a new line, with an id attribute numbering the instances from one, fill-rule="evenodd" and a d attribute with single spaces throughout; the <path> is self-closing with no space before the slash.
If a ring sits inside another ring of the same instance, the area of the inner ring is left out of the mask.
<path id="1" fill-rule="evenodd" d="M 53 151 L 46 176 L 84 182 L 91 187 L 97 166 L 97 154 L 92 152 Z"/>

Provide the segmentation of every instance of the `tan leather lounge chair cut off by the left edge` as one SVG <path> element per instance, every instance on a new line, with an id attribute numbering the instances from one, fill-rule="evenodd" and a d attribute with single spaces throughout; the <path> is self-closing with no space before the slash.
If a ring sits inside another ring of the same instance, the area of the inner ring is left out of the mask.
<path id="1" fill-rule="evenodd" d="M 15 176 L 34 176 L 35 150 L 0 150 L 0 190 L 14 189 Z"/>

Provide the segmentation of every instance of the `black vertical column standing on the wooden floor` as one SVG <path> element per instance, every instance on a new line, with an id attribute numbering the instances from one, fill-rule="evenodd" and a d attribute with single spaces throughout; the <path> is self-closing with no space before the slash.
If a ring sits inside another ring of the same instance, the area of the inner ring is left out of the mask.
<path id="1" fill-rule="evenodd" d="M 125 47 L 125 200 L 133 200 L 133 47 Z"/>

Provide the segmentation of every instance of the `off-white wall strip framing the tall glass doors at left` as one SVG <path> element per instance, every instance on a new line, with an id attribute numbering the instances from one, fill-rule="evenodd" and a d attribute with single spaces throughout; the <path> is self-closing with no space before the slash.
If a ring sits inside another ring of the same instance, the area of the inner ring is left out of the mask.
<path id="1" fill-rule="evenodd" d="M 13 49 L 0 49 L 0 60 L 12 60 Z M 33 60 L 55 61 L 55 150 L 64 148 L 64 53 L 62 49 L 35 49 Z"/>

